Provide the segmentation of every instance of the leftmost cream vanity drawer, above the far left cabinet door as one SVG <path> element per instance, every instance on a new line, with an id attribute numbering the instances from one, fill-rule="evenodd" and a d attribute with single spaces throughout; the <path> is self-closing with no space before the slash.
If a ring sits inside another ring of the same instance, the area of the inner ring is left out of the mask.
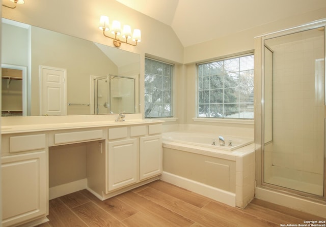
<path id="1" fill-rule="evenodd" d="M 22 152 L 46 148 L 45 134 L 14 136 L 9 139 L 9 152 Z"/>

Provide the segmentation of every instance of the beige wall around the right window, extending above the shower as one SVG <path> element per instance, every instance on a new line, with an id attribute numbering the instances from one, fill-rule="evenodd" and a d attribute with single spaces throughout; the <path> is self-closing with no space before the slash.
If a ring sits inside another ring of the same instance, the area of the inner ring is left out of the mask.
<path id="1" fill-rule="evenodd" d="M 221 37 L 208 42 L 200 43 L 197 45 L 184 48 L 184 64 L 186 64 L 186 81 L 187 84 L 185 96 L 178 97 L 177 102 L 186 103 L 186 111 L 180 112 L 179 117 L 184 118 L 187 124 L 202 125 L 207 130 L 207 127 L 213 125 L 219 128 L 234 127 L 236 131 L 239 129 L 246 135 L 252 135 L 254 125 L 237 125 L 237 124 L 225 124 L 225 123 L 206 123 L 206 122 L 194 122 L 193 117 L 196 117 L 197 108 L 197 67 L 196 63 L 208 61 L 211 59 L 230 56 L 236 53 L 248 52 L 254 50 L 254 37 L 271 33 L 301 24 L 309 23 L 318 19 L 326 18 L 326 8 L 312 11 L 303 15 L 297 15 L 296 17 L 287 18 L 282 21 L 275 21 L 273 23 L 264 24 L 259 27 L 253 27 L 247 30 L 243 30 L 240 33 L 232 34 L 230 36 Z M 259 19 L 259 18 L 257 18 Z"/>

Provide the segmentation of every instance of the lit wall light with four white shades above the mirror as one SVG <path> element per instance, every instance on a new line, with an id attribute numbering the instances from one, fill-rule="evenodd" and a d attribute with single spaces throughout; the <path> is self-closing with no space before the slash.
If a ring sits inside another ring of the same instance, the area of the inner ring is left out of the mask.
<path id="1" fill-rule="evenodd" d="M 115 37 L 110 37 L 105 34 L 105 31 L 110 30 L 110 27 L 108 25 L 108 17 L 107 16 L 101 16 L 100 18 L 100 24 L 98 26 L 100 30 L 103 30 L 103 35 L 107 38 L 113 39 L 113 44 L 116 47 L 120 47 L 121 43 L 126 43 L 132 46 L 137 46 L 137 43 L 141 42 L 141 30 L 140 29 L 134 29 L 133 35 L 131 37 L 131 27 L 129 25 L 123 25 L 123 30 L 121 31 L 121 24 L 119 21 L 114 20 L 112 22 L 111 27 L 111 33 L 115 35 Z M 120 40 L 117 38 L 117 36 L 122 35 L 122 37 L 125 39 L 125 41 Z M 128 43 L 128 40 L 132 39 L 133 43 Z"/>

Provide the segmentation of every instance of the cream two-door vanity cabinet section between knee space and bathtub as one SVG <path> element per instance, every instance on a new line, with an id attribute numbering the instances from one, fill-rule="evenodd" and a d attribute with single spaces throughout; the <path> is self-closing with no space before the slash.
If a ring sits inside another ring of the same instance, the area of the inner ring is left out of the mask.
<path id="1" fill-rule="evenodd" d="M 103 148 L 96 151 L 96 145 L 88 151 L 88 189 L 105 200 L 158 179 L 162 173 L 161 127 L 156 123 L 108 128 L 105 152 Z M 104 169 L 105 175 L 98 174 Z"/>

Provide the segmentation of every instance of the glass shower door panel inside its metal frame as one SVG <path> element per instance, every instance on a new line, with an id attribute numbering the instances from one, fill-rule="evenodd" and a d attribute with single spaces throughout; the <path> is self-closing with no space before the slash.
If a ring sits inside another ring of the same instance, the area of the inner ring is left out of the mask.
<path id="1" fill-rule="evenodd" d="M 324 196 L 324 44 L 324 26 L 263 40 L 263 185 Z"/>

